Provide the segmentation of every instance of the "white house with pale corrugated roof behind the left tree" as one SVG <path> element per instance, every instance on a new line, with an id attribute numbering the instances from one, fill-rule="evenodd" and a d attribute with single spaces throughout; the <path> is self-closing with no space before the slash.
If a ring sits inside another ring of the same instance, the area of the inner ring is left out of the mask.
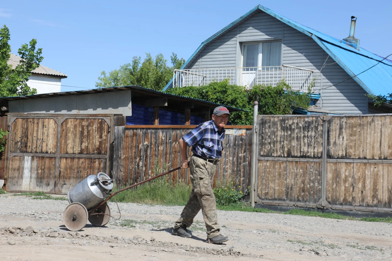
<path id="1" fill-rule="evenodd" d="M 16 54 L 10 53 L 8 64 L 12 65 L 12 68 L 19 64 L 20 57 Z M 37 94 L 49 93 L 49 92 L 60 92 L 61 91 L 61 79 L 67 78 L 62 72 L 55 71 L 44 65 L 40 65 L 34 69 L 27 81 L 27 85 L 31 89 L 37 89 Z"/>

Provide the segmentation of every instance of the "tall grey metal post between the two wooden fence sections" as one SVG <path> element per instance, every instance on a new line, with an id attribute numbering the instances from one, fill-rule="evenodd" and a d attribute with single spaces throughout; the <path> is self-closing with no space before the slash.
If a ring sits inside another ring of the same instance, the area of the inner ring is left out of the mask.
<path id="1" fill-rule="evenodd" d="M 257 165 L 257 114 L 259 109 L 259 102 L 253 102 L 253 129 L 252 129 L 252 176 L 250 179 L 250 204 L 254 207 L 255 202 L 255 183 L 256 183 L 256 165 Z"/>

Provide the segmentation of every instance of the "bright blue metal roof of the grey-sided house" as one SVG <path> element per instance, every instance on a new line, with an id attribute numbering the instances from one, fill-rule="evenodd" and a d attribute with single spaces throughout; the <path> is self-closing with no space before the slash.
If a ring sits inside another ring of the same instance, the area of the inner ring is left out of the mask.
<path id="1" fill-rule="evenodd" d="M 198 49 L 196 49 L 192 56 L 187 60 L 187 62 L 185 62 L 183 67 L 181 67 L 181 69 L 184 69 L 187 64 L 199 54 L 199 52 L 205 47 L 205 45 L 231 29 L 234 25 L 242 22 L 244 19 L 250 16 L 250 14 L 254 13 L 257 10 L 261 10 L 267 14 L 270 14 L 271 16 L 282 21 L 283 23 L 297 29 L 301 33 L 312 37 L 313 40 L 316 41 L 320 45 L 320 47 L 323 48 L 324 51 L 328 53 L 335 60 L 335 62 L 337 62 L 348 73 L 350 77 L 353 77 L 353 79 L 368 94 L 386 95 L 388 93 L 392 93 L 391 60 L 383 60 L 382 57 L 371 53 L 361 47 L 359 48 L 359 50 L 356 50 L 354 47 L 351 47 L 342 42 L 342 40 L 336 39 L 327 34 L 320 33 L 319 31 L 298 24 L 297 22 L 294 22 L 289 18 L 281 16 L 278 13 L 275 13 L 274 11 L 263 7 L 262 5 L 257 5 L 248 13 L 244 14 L 243 16 L 220 30 L 218 33 L 214 34 L 213 36 L 202 42 Z M 370 67 L 372 68 L 368 69 Z M 367 71 L 363 72 L 365 70 Z M 356 76 L 357 74 L 359 75 Z M 169 87 L 169 85 L 171 85 L 171 83 L 172 80 L 166 85 L 163 91 L 165 91 Z"/>

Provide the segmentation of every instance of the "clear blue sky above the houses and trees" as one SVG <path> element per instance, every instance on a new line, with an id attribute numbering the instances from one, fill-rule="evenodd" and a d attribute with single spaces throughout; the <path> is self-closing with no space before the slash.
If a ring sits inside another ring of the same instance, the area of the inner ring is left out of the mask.
<path id="1" fill-rule="evenodd" d="M 380 56 L 392 53 L 392 1 L 7 1 L 0 24 L 11 31 L 11 48 L 32 38 L 43 48 L 47 67 L 63 72 L 62 91 L 92 89 L 101 71 L 133 56 L 172 52 L 187 60 L 201 42 L 258 4 L 300 24 L 342 39 L 350 16 L 358 17 L 361 47 Z"/>

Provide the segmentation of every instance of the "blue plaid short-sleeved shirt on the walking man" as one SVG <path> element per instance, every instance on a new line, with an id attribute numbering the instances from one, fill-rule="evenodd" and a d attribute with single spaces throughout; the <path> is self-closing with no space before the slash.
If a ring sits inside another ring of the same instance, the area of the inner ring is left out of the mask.
<path id="1" fill-rule="evenodd" d="M 199 124 L 182 137 L 188 147 L 192 146 L 193 153 L 207 159 L 222 157 L 223 138 L 225 128 L 218 130 L 218 126 L 212 120 Z"/>

